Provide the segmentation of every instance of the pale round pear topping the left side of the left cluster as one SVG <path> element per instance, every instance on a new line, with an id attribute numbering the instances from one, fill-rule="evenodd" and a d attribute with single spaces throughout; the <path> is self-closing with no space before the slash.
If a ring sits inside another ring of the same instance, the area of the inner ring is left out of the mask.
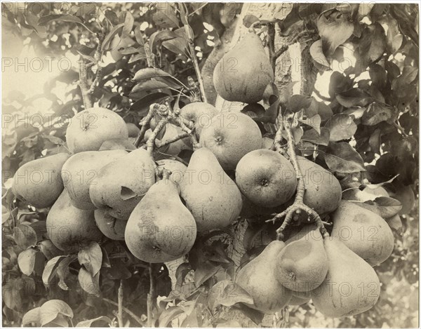
<path id="1" fill-rule="evenodd" d="M 70 152 L 98 151 L 105 140 L 128 138 L 123 118 L 102 107 L 85 109 L 72 117 L 66 130 Z"/>

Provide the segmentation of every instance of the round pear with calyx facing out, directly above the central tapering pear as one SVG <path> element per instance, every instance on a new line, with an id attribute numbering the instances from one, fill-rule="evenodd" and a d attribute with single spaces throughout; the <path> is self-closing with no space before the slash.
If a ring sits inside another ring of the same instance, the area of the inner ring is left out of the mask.
<path id="1" fill-rule="evenodd" d="M 229 170 L 235 169 L 248 152 L 262 148 L 262 133 L 250 116 L 223 112 L 202 128 L 200 143 L 215 154 L 222 168 Z"/>

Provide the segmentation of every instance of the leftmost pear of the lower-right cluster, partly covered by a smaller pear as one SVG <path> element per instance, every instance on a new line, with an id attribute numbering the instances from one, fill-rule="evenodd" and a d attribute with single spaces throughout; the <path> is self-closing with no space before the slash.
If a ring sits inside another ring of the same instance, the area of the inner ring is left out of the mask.
<path id="1" fill-rule="evenodd" d="M 272 241 L 236 276 L 236 283 L 253 297 L 252 306 L 265 314 L 274 314 L 288 304 L 292 291 L 276 279 L 276 256 L 285 247 L 282 241 Z"/>

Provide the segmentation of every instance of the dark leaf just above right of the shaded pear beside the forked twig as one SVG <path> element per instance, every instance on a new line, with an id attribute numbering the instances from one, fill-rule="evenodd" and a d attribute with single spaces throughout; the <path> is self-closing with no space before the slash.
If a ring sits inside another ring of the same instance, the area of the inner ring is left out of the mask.
<path id="1" fill-rule="evenodd" d="M 358 173 L 366 171 L 364 161 L 347 142 L 331 143 L 324 154 L 329 169 L 338 173 Z"/>

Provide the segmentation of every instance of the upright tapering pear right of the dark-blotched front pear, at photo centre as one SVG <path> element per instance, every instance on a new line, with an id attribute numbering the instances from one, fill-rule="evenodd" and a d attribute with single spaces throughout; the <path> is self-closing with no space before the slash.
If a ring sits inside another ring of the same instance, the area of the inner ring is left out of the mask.
<path id="1" fill-rule="evenodd" d="M 241 192 L 206 147 L 196 150 L 180 184 L 181 196 L 198 231 L 222 229 L 241 211 Z"/>

